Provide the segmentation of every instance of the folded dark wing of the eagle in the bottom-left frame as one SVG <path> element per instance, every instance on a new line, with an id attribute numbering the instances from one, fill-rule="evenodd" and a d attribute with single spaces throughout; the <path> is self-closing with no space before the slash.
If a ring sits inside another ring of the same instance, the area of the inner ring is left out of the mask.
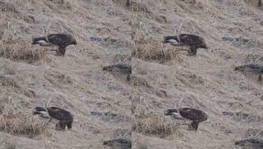
<path id="1" fill-rule="evenodd" d="M 54 118 L 57 119 L 59 121 L 69 121 L 71 120 L 71 114 L 70 112 L 63 110 L 63 109 L 59 109 L 56 107 L 50 107 L 47 108 L 49 115 Z"/>

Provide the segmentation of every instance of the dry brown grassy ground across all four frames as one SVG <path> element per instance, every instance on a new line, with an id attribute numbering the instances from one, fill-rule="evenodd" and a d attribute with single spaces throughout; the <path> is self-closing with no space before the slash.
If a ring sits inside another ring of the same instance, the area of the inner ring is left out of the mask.
<path id="1" fill-rule="evenodd" d="M 121 149 L 103 142 L 132 136 L 133 149 L 240 149 L 236 140 L 263 137 L 263 83 L 234 72 L 263 61 L 257 2 L 132 0 L 130 9 L 126 0 L 0 0 L 0 148 Z M 31 47 L 32 37 L 63 32 L 78 41 L 64 57 Z M 203 36 L 209 49 L 195 57 L 163 47 L 163 36 L 179 33 Z M 133 87 L 102 71 L 130 61 Z M 69 110 L 73 130 L 31 122 L 35 106 Z M 197 132 L 163 123 L 163 111 L 176 107 L 209 119 Z"/>

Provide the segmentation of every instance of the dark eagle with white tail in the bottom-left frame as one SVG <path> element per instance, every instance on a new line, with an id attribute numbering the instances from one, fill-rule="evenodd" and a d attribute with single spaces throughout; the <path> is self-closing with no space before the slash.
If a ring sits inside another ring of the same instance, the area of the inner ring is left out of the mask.
<path id="1" fill-rule="evenodd" d="M 58 124 L 56 124 L 58 130 L 65 130 L 66 126 L 68 130 L 72 128 L 73 115 L 64 109 L 58 107 L 35 107 L 33 110 L 34 115 L 58 120 Z"/>

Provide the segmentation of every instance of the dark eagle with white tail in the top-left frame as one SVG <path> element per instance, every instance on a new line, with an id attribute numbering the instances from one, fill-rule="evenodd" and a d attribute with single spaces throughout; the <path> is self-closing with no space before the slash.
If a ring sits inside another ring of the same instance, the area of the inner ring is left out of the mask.
<path id="1" fill-rule="evenodd" d="M 48 36 L 33 38 L 32 45 L 56 45 L 58 46 L 57 53 L 65 55 L 66 47 L 69 45 L 77 45 L 76 39 L 70 34 L 50 34 Z"/>

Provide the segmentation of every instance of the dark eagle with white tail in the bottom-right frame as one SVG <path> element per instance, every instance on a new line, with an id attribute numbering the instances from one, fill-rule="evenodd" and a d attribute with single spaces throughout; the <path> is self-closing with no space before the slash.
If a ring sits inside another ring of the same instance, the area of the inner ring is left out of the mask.
<path id="1" fill-rule="evenodd" d="M 198 125 L 200 122 L 207 120 L 208 116 L 205 112 L 192 109 L 192 108 L 179 108 L 179 109 L 168 109 L 165 111 L 165 115 L 172 115 L 172 116 L 181 116 L 184 119 L 191 120 L 191 126 L 197 131 Z"/>

